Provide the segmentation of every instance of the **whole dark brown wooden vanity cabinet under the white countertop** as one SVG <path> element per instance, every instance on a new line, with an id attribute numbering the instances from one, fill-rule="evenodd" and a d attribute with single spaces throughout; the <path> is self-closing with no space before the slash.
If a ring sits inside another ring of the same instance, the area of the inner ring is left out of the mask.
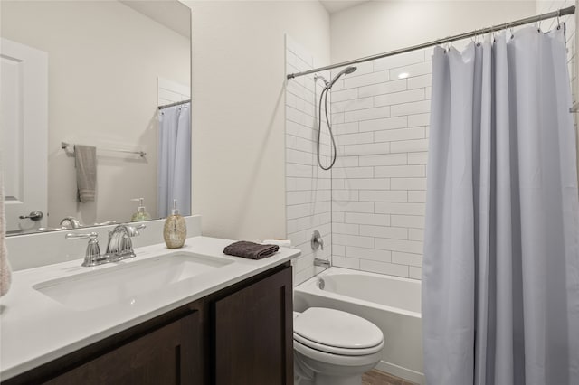
<path id="1" fill-rule="evenodd" d="M 291 385 L 289 263 L 3 384 Z"/>

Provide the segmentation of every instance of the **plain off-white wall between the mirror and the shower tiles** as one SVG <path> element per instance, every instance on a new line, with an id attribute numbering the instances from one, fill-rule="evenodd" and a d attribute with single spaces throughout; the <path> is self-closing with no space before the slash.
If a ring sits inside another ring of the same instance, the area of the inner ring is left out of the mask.
<path id="1" fill-rule="evenodd" d="M 284 34 L 329 61 L 318 2 L 185 1 L 193 12 L 193 212 L 204 235 L 284 238 Z"/>

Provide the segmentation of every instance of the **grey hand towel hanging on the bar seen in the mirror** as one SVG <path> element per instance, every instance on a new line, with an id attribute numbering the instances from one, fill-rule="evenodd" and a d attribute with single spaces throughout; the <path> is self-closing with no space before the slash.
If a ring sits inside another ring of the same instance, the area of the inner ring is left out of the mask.
<path id="1" fill-rule="evenodd" d="M 74 146 L 79 202 L 94 202 L 97 186 L 97 147 Z"/>

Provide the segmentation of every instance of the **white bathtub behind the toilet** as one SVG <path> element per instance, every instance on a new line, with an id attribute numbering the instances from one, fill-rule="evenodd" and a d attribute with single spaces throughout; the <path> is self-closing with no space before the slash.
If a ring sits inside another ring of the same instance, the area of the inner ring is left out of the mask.
<path id="1" fill-rule="evenodd" d="M 385 340 L 376 369 L 425 383 L 420 281 L 333 267 L 294 288 L 294 310 L 312 306 L 343 310 L 374 323 Z"/>

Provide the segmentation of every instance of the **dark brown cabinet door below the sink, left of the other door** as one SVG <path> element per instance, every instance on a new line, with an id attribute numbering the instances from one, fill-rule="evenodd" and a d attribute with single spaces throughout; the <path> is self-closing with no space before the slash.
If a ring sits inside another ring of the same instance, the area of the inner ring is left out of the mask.
<path id="1" fill-rule="evenodd" d="M 139 336 L 49 380 L 48 384 L 194 384 L 203 354 L 195 352 L 199 313 Z"/>

